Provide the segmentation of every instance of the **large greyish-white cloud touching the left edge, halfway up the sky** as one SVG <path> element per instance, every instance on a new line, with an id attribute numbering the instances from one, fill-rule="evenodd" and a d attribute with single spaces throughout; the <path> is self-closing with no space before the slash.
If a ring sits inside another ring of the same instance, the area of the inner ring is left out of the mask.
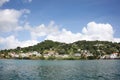
<path id="1" fill-rule="evenodd" d="M 19 18 L 24 14 L 29 13 L 29 10 L 14 10 L 14 9 L 4 9 L 0 10 L 0 32 L 10 32 L 21 30 L 22 27 L 19 26 Z"/>

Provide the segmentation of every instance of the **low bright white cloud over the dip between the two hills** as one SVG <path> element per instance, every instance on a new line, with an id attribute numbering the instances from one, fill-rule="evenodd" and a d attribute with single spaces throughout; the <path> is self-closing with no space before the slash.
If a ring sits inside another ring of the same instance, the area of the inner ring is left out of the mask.
<path id="1" fill-rule="evenodd" d="M 65 43 L 72 43 L 74 41 L 78 41 L 81 39 L 81 33 L 72 33 L 71 31 L 67 31 L 66 29 L 62 29 L 56 34 L 47 35 L 46 39 L 65 42 Z"/>

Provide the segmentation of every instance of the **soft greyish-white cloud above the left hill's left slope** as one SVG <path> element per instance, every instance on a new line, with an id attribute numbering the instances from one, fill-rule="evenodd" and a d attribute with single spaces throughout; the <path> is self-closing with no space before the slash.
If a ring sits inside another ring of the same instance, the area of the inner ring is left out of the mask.
<path id="1" fill-rule="evenodd" d="M 53 21 L 51 21 L 48 26 L 41 24 L 35 28 L 27 27 L 27 29 L 30 30 L 32 39 L 37 39 L 38 37 L 56 34 L 59 32 L 58 26 L 55 25 Z"/>

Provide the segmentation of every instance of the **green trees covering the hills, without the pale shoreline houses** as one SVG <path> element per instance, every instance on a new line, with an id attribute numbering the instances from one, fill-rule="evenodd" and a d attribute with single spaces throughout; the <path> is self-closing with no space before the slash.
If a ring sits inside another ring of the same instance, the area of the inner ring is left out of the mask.
<path id="1" fill-rule="evenodd" d="M 54 42 L 51 40 L 45 40 L 34 46 L 29 46 L 25 48 L 17 47 L 16 49 L 5 49 L 0 51 L 0 58 L 10 58 L 8 54 L 14 52 L 15 54 L 28 53 L 36 51 L 41 55 L 49 53 L 49 51 L 54 51 L 54 53 L 59 53 L 60 55 L 68 54 L 70 57 L 68 59 L 74 59 L 73 55 L 80 53 L 81 57 L 76 59 L 86 59 L 83 53 L 92 53 L 93 56 L 88 56 L 87 59 L 99 59 L 100 56 L 112 53 L 120 53 L 120 43 L 113 43 L 108 41 L 77 41 L 74 43 L 66 44 L 60 42 Z M 54 56 L 49 57 L 50 59 L 55 59 Z M 44 59 L 41 57 L 40 59 Z"/>

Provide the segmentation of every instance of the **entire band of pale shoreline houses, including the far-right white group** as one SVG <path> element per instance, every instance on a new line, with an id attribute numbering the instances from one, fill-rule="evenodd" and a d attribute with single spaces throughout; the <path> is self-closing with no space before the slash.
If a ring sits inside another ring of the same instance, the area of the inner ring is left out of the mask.
<path id="1" fill-rule="evenodd" d="M 8 55 L 12 58 L 31 58 L 31 57 L 44 57 L 44 58 L 49 58 L 49 57 L 55 57 L 55 58 L 69 58 L 71 55 L 70 54 L 59 54 L 55 51 L 48 51 L 47 53 L 44 54 L 40 54 L 37 51 L 33 51 L 33 52 L 28 52 L 28 53 L 19 53 L 16 54 L 15 52 L 12 53 L 8 53 Z M 73 57 L 90 57 L 90 56 L 94 56 L 92 53 L 90 53 L 87 50 L 83 50 L 81 51 L 81 53 L 74 53 L 72 54 Z M 103 55 L 100 56 L 100 59 L 117 59 L 120 58 L 118 53 L 112 53 L 109 55 Z"/>

